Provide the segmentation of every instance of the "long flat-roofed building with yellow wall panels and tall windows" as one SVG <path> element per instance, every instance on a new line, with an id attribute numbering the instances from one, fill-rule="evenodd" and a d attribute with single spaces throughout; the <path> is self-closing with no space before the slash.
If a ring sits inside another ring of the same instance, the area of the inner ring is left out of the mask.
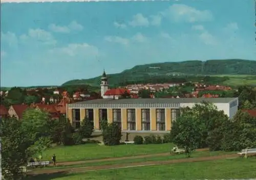
<path id="1" fill-rule="evenodd" d="M 100 130 L 102 120 L 118 123 L 123 132 L 169 131 L 180 108 L 193 107 L 202 101 L 212 102 L 229 118 L 238 111 L 238 98 L 94 99 L 68 104 L 67 117 L 75 127 L 88 117 L 96 131 Z"/>

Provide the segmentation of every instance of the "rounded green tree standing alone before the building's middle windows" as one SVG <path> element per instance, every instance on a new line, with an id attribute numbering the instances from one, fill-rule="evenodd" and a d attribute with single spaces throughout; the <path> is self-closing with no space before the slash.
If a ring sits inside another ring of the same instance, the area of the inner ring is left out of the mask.
<path id="1" fill-rule="evenodd" d="M 102 137 L 105 145 L 118 145 L 122 137 L 121 128 L 117 123 L 109 123 L 103 128 Z"/>

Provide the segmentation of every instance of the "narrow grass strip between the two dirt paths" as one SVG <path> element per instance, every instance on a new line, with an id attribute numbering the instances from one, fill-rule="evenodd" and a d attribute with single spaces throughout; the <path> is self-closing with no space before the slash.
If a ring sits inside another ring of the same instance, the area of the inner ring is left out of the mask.
<path id="1" fill-rule="evenodd" d="M 209 156 L 218 156 L 218 155 L 227 155 L 236 152 L 224 152 L 224 151 L 198 151 L 194 152 L 191 158 L 197 157 L 209 157 Z M 57 167 L 47 167 L 41 169 L 65 169 L 65 168 L 74 168 L 74 167 L 87 167 L 87 166 L 100 166 L 100 165 L 114 165 L 114 164 L 126 164 L 126 163 L 137 163 L 137 162 L 146 162 L 146 161 L 167 161 L 167 160 L 176 160 L 176 159 L 184 159 L 187 158 L 185 154 L 180 155 L 169 155 L 169 156 L 158 156 L 158 157 L 147 157 L 147 158 L 138 158 L 138 159 L 125 159 L 125 160 L 115 160 L 115 161 L 102 161 L 102 162 L 89 162 L 83 164 L 76 165 L 68 165 L 68 166 L 58 166 Z M 40 170 L 40 168 L 35 169 Z"/>

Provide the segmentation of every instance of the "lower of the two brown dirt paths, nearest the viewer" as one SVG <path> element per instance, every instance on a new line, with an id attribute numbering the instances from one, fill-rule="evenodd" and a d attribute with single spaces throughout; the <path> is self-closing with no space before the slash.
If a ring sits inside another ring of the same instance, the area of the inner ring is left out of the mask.
<path id="1" fill-rule="evenodd" d="M 200 161 L 212 161 L 226 158 L 236 158 L 237 154 L 232 155 L 221 155 L 211 157 L 200 157 L 200 158 L 187 158 L 187 159 L 176 159 L 167 161 L 146 161 L 126 164 L 114 164 L 114 165 L 100 165 L 100 166 L 88 166 L 88 167 L 76 167 L 76 168 L 65 168 L 65 169 L 45 169 L 29 172 L 29 174 L 45 174 L 45 173 L 75 173 L 75 172 L 87 172 L 104 169 L 119 169 L 119 168 L 131 168 L 131 167 L 142 167 L 142 166 L 153 166 L 153 165 L 164 165 L 174 163 L 185 163 L 185 162 L 200 162 Z"/>

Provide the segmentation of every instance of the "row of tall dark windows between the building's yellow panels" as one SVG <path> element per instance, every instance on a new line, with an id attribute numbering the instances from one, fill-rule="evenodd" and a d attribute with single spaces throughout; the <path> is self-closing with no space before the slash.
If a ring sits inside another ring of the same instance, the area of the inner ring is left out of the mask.
<path id="1" fill-rule="evenodd" d="M 80 110 L 73 109 L 73 126 L 78 128 L 80 126 Z M 179 109 L 172 109 L 172 121 L 180 115 Z M 86 109 L 86 117 L 88 117 L 92 123 L 93 121 L 93 109 Z M 99 128 L 101 122 L 108 119 L 108 113 L 106 109 L 99 109 Z M 113 122 L 122 126 L 121 109 L 113 109 Z M 156 109 L 156 128 L 157 131 L 165 131 L 165 109 Z M 151 114 L 150 109 L 141 109 L 141 129 L 142 131 L 151 130 Z M 136 130 L 136 112 L 135 109 L 127 109 L 127 130 Z"/>

